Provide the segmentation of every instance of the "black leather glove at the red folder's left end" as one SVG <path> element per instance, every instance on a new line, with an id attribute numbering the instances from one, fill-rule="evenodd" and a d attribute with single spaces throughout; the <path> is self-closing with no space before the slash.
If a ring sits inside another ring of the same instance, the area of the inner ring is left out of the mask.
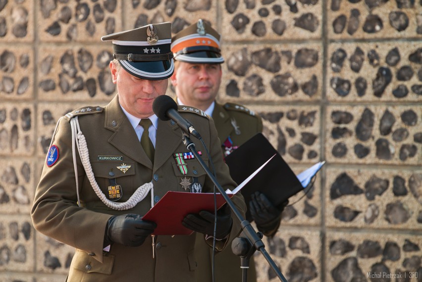
<path id="1" fill-rule="evenodd" d="M 140 215 L 113 216 L 107 222 L 104 244 L 115 242 L 126 247 L 138 247 L 156 227 L 156 223 L 143 221 Z"/>

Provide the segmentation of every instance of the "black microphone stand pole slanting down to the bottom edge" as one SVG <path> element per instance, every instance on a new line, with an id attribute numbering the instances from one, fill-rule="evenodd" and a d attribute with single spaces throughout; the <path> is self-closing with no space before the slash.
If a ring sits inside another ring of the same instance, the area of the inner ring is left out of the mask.
<path id="1" fill-rule="evenodd" d="M 189 137 L 183 133 L 182 136 L 183 144 L 186 146 L 188 150 L 190 150 L 195 158 L 198 160 L 198 162 L 201 164 L 202 168 L 205 170 L 207 175 L 211 178 L 212 182 L 214 183 L 215 187 L 217 187 L 218 191 L 220 192 L 221 196 L 223 196 L 224 200 L 226 201 L 227 205 L 230 207 L 230 209 L 233 211 L 234 215 L 240 222 L 240 226 L 242 227 L 243 233 L 246 235 L 246 238 L 240 238 L 240 239 L 246 239 L 247 241 L 243 241 L 242 243 L 250 244 L 250 246 L 253 246 L 255 249 L 247 250 L 246 252 L 242 251 L 242 256 L 245 256 L 245 258 L 241 257 L 242 259 L 245 259 L 242 261 L 242 271 L 243 271 L 243 279 L 245 281 L 247 275 L 246 271 L 247 268 L 249 268 L 249 258 L 252 256 L 252 254 L 255 252 L 255 250 L 260 251 L 265 260 L 268 262 L 269 266 L 274 270 L 274 272 L 277 274 L 278 278 L 282 282 L 288 282 L 281 271 L 278 269 L 275 262 L 272 260 L 272 258 L 269 256 L 267 251 L 265 250 L 264 242 L 261 240 L 258 233 L 255 231 L 254 227 L 251 225 L 250 222 L 243 219 L 240 212 L 237 210 L 237 208 L 234 206 L 233 202 L 230 200 L 230 197 L 226 194 L 224 189 L 221 187 L 221 185 L 218 183 L 217 179 L 214 177 L 208 166 L 205 164 L 204 160 L 201 158 L 201 156 L 198 154 L 198 151 L 195 148 L 195 144 L 189 139 Z M 246 265 L 246 266 L 245 266 Z"/>

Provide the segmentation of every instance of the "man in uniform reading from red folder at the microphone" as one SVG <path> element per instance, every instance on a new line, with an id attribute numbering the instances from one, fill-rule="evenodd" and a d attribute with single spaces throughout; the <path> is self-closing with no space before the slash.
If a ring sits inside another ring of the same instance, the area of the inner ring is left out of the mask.
<path id="1" fill-rule="evenodd" d="M 156 236 L 157 224 L 142 220 L 167 191 L 213 189 L 197 159 L 180 157 L 189 151 L 179 126 L 152 110 L 174 70 L 170 28 L 150 24 L 104 36 L 113 44 L 109 67 L 117 95 L 104 108 L 83 107 L 57 123 L 31 217 L 38 231 L 76 248 L 67 281 L 195 281 L 195 232 Z M 208 165 L 212 159 L 221 186 L 235 187 L 212 119 L 193 107 L 179 112 L 201 132 L 210 152 L 203 159 Z M 243 197 L 232 199 L 244 214 Z M 205 211 L 183 220 L 203 232 L 198 238 L 207 245 L 214 239 L 210 217 Z M 231 217 L 227 208 L 217 212 L 216 251 L 240 232 Z"/>

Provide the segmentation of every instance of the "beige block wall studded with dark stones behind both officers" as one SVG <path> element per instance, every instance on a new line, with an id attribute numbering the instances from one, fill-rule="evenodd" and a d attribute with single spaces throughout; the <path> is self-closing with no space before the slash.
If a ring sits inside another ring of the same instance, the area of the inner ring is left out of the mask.
<path id="1" fill-rule="evenodd" d="M 219 99 L 259 113 L 295 171 L 326 161 L 264 239 L 288 281 L 422 281 L 421 0 L 0 0 L 0 281 L 69 270 L 29 213 L 56 120 L 115 93 L 100 37 L 198 18 L 223 36 Z"/>

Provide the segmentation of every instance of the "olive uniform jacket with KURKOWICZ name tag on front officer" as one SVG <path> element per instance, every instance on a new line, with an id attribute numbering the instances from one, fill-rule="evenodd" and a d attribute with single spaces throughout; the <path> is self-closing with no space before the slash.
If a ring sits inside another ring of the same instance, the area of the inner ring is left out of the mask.
<path id="1" fill-rule="evenodd" d="M 90 109 L 90 110 L 88 110 Z M 84 111 L 82 111 L 84 110 Z M 228 167 L 224 164 L 217 133 L 212 119 L 202 116 L 202 111 L 182 113 L 201 132 L 214 163 L 217 179 L 224 188 L 233 188 Z M 102 192 L 107 195 L 110 179 L 121 185 L 125 202 L 134 191 L 153 178 L 154 200 L 157 202 L 167 191 L 185 191 L 180 185 L 184 177 L 176 166 L 174 153 L 189 152 L 182 143 L 181 129 L 172 121 L 158 122 L 154 165 L 145 154 L 139 139 L 121 110 L 118 95 L 103 109 L 85 107 L 77 115 L 80 128 L 89 149 L 89 159 Z M 204 114 L 205 115 L 205 114 Z M 66 116 L 70 116 L 69 114 Z M 194 139 L 194 138 L 192 138 Z M 192 140 L 198 151 L 205 152 L 201 142 Z M 197 262 L 194 255 L 196 234 L 157 236 L 155 258 L 152 240 L 147 238 L 139 247 L 111 245 L 103 253 L 105 228 L 111 215 L 145 215 L 151 208 L 150 193 L 130 210 L 116 211 L 108 208 L 96 195 L 76 152 L 80 204 L 77 205 L 75 171 L 72 160 L 72 135 L 69 118 L 61 118 L 53 136 L 58 148 L 58 160 L 53 166 L 44 165 L 40 183 L 31 210 L 34 227 L 60 242 L 76 248 L 70 265 L 70 282 L 139 281 L 139 282 L 194 282 Z M 117 156 L 121 161 L 102 161 L 100 156 Z M 206 154 L 204 161 L 209 164 Z M 117 167 L 130 166 L 123 172 Z M 203 186 L 203 192 L 212 192 L 213 184 L 196 159 L 186 160 L 186 177 L 193 177 Z M 194 171 L 196 174 L 194 174 Z M 111 175 L 110 175 L 111 174 Z M 244 214 L 246 206 L 241 195 L 233 201 Z M 236 237 L 240 229 L 233 225 L 227 241 Z M 200 236 L 205 241 L 204 236 Z M 218 241 L 223 248 L 225 240 Z M 225 246 L 224 246 L 225 247 Z"/>

